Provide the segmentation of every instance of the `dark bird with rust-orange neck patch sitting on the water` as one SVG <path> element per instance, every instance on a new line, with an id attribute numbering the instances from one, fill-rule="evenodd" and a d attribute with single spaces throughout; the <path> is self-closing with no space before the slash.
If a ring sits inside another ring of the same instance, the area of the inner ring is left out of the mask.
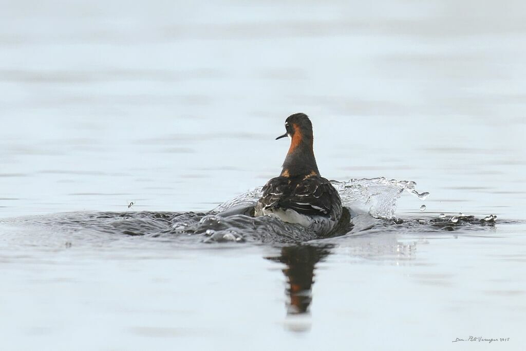
<path id="1" fill-rule="evenodd" d="M 327 236 L 339 222 L 342 206 L 337 190 L 318 171 L 312 123 L 306 114 L 296 113 L 286 119 L 285 129 L 276 140 L 289 137 L 289 151 L 279 177 L 262 188 L 254 215 L 278 217 Z"/>

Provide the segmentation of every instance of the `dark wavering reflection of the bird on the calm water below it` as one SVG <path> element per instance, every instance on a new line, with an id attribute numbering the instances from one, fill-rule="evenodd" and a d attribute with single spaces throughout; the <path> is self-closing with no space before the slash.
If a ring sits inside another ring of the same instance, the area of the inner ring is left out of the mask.
<path id="1" fill-rule="evenodd" d="M 287 315 L 301 315 L 309 311 L 316 264 L 330 254 L 332 245 L 295 245 L 281 248 L 279 256 L 270 256 L 274 262 L 286 265 L 282 272 L 288 280 Z"/>

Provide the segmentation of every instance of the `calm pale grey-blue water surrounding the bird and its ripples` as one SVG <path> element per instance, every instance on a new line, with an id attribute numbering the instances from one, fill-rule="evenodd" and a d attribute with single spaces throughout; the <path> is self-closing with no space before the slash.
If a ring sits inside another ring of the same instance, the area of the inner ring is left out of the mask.
<path id="1" fill-rule="evenodd" d="M 0 9 L 0 349 L 524 349 L 524 2 Z M 497 225 L 333 240 L 301 318 L 274 246 L 14 225 L 214 208 L 279 173 L 300 111 L 323 176 Z"/>

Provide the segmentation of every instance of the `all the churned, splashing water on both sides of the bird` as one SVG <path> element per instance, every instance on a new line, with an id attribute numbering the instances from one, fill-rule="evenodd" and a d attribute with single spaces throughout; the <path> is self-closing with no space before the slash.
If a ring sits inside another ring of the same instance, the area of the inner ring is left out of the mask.
<path id="1" fill-rule="evenodd" d="M 357 236 L 404 232 L 437 233 L 457 229 L 493 227 L 497 217 L 482 219 L 462 213 L 454 216 L 440 214 L 437 218 L 395 217 L 398 198 L 410 193 L 421 198 L 414 182 L 385 178 L 351 179 L 333 184 L 338 189 L 344 216 L 332 233 L 334 236 Z M 319 239 L 316 233 L 298 224 L 280 219 L 250 214 L 261 187 L 228 200 L 210 212 L 76 212 L 32 217 L 18 220 L 19 224 L 52 227 L 54 230 L 92 234 L 92 237 L 150 237 L 166 238 L 185 243 L 300 243 Z M 425 208 L 424 208 L 425 209 Z M 86 236 L 84 236 L 86 237 Z"/>

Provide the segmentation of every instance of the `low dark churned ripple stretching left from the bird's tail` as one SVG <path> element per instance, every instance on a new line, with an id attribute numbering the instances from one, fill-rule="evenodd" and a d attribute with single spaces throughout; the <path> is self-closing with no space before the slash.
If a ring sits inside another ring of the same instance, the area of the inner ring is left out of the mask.
<path id="1" fill-rule="evenodd" d="M 317 239 L 318 235 L 299 224 L 279 218 L 213 213 L 173 212 L 72 212 L 27 217 L 9 224 L 32 225 L 52 232 L 67 232 L 73 238 L 89 240 L 123 237 L 165 238 L 180 244 L 188 243 L 300 243 Z M 36 230 L 35 232 L 39 232 Z"/>

